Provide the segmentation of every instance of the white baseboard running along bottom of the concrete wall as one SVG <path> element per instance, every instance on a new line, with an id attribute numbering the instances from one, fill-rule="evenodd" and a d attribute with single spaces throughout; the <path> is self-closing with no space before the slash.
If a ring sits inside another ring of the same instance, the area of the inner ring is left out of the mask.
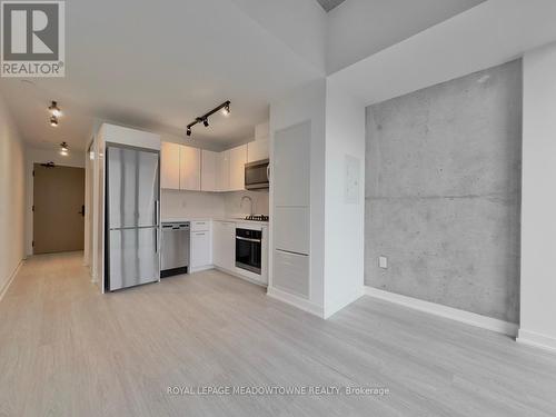
<path id="1" fill-rule="evenodd" d="M 368 286 L 365 287 L 365 292 L 367 294 L 367 296 L 414 308 L 416 310 L 429 312 L 444 318 L 449 318 L 451 320 L 465 322 L 467 325 L 480 327 L 487 330 L 502 332 L 512 337 L 517 336 L 518 326 L 514 322 L 481 316 L 475 312 L 459 310 L 457 308 L 447 307 L 435 302 L 424 301 L 417 298 L 401 296 L 399 294 L 394 294 Z"/>

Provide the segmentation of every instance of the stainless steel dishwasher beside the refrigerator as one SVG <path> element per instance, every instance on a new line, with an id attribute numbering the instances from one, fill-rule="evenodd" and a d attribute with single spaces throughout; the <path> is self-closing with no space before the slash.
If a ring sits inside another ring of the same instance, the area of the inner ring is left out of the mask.
<path id="1" fill-rule="evenodd" d="M 189 269 L 190 224 L 162 222 L 160 278 L 187 274 Z"/>

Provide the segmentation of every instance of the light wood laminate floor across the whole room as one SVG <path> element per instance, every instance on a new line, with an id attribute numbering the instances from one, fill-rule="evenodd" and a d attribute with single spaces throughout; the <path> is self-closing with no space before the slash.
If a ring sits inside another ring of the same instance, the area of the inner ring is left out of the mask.
<path id="1" fill-rule="evenodd" d="M 373 386 L 181 396 L 169 386 Z M 556 416 L 556 356 L 364 297 L 327 321 L 218 271 L 110 295 L 80 254 L 26 261 L 0 301 L 0 416 Z"/>

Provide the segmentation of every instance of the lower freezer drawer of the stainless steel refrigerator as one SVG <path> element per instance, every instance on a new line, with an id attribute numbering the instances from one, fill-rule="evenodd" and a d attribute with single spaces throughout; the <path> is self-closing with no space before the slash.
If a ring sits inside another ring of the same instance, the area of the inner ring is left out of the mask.
<path id="1" fill-rule="evenodd" d="M 109 245 L 110 291 L 160 279 L 158 228 L 110 230 Z"/>

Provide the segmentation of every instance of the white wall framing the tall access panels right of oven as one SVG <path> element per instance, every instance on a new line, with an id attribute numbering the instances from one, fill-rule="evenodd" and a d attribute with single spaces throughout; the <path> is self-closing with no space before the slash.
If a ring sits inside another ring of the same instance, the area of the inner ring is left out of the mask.
<path id="1" fill-rule="evenodd" d="M 311 121 L 310 159 L 310 297 L 324 312 L 325 268 L 325 102 L 326 81 L 320 79 L 270 105 L 270 160 L 276 131 Z M 291 185 L 295 187 L 295 185 Z M 274 225 L 272 183 L 270 183 L 269 287 L 272 287 Z"/>

